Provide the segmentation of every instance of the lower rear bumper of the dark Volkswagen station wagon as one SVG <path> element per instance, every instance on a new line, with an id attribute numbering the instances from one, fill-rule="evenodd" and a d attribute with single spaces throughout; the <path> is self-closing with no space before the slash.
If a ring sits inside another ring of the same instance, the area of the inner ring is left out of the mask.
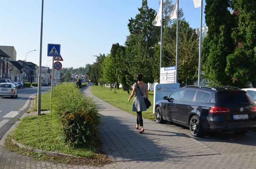
<path id="1" fill-rule="evenodd" d="M 207 124 L 208 123 L 208 124 Z M 205 132 L 225 132 L 225 131 L 243 131 L 256 129 L 256 121 L 232 121 L 232 122 L 217 122 L 207 121 L 202 123 L 202 128 Z"/>

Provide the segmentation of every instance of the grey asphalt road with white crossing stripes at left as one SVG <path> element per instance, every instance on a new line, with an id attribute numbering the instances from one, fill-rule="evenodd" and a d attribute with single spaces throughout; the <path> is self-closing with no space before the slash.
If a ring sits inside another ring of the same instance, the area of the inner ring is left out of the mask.
<path id="1" fill-rule="evenodd" d="M 51 87 L 42 87 L 42 92 L 51 90 Z M 0 97 L 0 139 L 9 128 L 29 109 L 30 98 L 37 94 L 37 88 L 19 89 L 18 97 Z"/>

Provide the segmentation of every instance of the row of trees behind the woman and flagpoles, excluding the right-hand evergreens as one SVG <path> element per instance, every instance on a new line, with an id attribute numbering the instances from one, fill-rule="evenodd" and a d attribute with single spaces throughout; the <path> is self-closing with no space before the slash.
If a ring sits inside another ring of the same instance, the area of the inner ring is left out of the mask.
<path id="1" fill-rule="evenodd" d="M 163 3 L 163 54 L 162 66 L 175 65 L 176 20 L 168 16 L 174 4 L 171 0 Z M 89 67 L 89 79 L 96 84 L 119 84 L 129 93 L 136 74 L 143 74 L 143 81 L 159 82 L 160 72 L 160 27 L 152 25 L 156 11 L 149 8 L 147 0 L 135 18 L 130 18 L 125 45 L 115 43 L 108 55 L 96 56 L 96 62 Z M 182 86 L 193 83 L 198 70 L 198 36 L 179 10 L 179 82 Z M 119 86 L 119 85 L 117 85 Z"/>

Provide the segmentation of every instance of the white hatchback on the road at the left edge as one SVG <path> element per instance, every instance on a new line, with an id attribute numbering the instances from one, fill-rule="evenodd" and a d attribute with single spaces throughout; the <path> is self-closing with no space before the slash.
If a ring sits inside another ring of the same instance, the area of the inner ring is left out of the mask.
<path id="1" fill-rule="evenodd" d="M 0 83 L 0 96 L 18 97 L 18 89 L 13 83 Z"/>

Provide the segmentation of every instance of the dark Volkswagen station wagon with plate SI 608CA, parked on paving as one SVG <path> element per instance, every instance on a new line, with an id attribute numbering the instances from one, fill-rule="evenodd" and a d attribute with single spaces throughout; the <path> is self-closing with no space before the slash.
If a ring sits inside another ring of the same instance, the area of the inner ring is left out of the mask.
<path id="1" fill-rule="evenodd" d="M 186 86 L 156 102 L 155 118 L 187 126 L 194 137 L 204 132 L 246 134 L 256 129 L 256 104 L 236 87 Z"/>

